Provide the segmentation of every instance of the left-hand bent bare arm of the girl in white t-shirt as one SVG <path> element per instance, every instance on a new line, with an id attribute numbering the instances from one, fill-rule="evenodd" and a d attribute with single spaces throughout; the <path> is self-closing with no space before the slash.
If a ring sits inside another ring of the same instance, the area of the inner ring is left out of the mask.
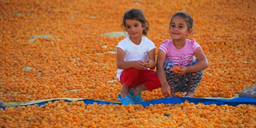
<path id="1" fill-rule="evenodd" d="M 143 69 L 144 64 L 143 61 L 131 61 L 125 62 L 123 61 L 125 58 L 125 51 L 120 47 L 117 47 L 117 68 L 119 69 L 129 69 L 129 68 L 136 68 L 136 69 Z"/>

